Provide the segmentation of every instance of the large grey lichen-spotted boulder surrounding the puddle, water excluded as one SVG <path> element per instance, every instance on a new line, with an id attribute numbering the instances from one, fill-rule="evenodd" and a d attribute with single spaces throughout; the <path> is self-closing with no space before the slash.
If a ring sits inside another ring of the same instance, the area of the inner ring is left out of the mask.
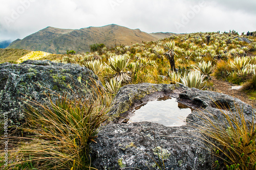
<path id="1" fill-rule="evenodd" d="M 193 110 L 186 118 L 186 125 L 165 127 L 151 122 L 122 123 L 126 122 L 123 116 L 129 117 L 141 103 L 166 95 Z M 92 164 L 98 169 L 157 169 L 158 165 L 163 169 L 163 163 L 165 169 L 211 169 L 216 159 L 212 158 L 210 148 L 197 129 L 205 126 L 202 115 L 224 125 L 222 111 L 225 107 L 230 108 L 227 111 L 230 114 L 239 114 L 237 109 L 243 108 L 248 122 L 255 111 L 226 94 L 182 85 L 149 83 L 120 88 L 113 104 L 110 112 L 114 116 L 113 123 L 104 126 L 98 133 L 97 143 L 90 145 Z"/>

